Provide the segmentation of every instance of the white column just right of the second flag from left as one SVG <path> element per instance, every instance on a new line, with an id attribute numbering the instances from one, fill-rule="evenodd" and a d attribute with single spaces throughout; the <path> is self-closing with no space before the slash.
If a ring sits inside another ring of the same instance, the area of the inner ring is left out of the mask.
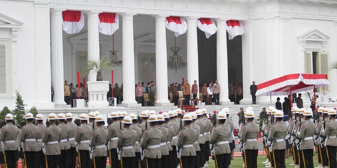
<path id="1" fill-rule="evenodd" d="M 137 106 L 135 100 L 135 63 L 133 46 L 133 16 L 122 14 L 123 101 L 124 106 Z"/>

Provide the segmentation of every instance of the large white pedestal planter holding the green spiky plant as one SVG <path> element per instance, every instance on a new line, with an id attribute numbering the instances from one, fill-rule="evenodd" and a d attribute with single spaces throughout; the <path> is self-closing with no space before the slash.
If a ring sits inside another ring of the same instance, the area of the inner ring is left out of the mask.
<path id="1" fill-rule="evenodd" d="M 89 102 L 88 107 L 107 107 L 107 92 L 109 92 L 109 81 L 88 82 Z"/>

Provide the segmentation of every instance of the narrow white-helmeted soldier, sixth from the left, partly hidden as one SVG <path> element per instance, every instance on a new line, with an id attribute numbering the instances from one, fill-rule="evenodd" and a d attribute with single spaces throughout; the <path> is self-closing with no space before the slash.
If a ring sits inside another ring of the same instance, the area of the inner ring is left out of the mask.
<path id="1" fill-rule="evenodd" d="M 68 144 L 69 144 L 69 150 L 68 150 L 68 167 L 76 167 L 76 142 L 75 142 L 75 131 L 77 129 L 77 125 L 72 122 L 72 114 L 66 113 L 65 119 L 67 121 L 67 125 L 69 126 L 69 136 L 68 136 Z"/>

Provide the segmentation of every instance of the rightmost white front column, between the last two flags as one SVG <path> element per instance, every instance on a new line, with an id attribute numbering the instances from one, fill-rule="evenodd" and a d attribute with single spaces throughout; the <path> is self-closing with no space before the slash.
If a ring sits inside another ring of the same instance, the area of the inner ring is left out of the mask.
<path id="1" fill-rule="evenodd" d="M 228 60 L 227 60 L 227 19 L 218 19 L 216 26 L 216 74 L 220 84 L 220 104 L 229 104 L 228 99 Z"/>

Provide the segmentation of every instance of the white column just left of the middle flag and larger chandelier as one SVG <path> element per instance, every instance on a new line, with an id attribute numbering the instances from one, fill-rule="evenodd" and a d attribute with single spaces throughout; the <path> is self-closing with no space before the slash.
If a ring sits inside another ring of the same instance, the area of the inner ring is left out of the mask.
<path id="1" fill-rule="evenodd" d="M 167 99 L 167 49 L 165 19 L 167 16 L 155 16 L 155 70 L 156 105 L 174 105 Z"/>

